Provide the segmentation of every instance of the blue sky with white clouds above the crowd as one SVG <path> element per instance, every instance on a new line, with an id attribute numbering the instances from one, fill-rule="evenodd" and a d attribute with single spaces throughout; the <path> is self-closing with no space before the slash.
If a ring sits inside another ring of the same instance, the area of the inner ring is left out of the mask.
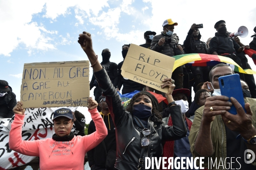
<path id="1" fill-rule="evenodd" d="M 23 64 L 30 62 L 87 60 L 77 43 L 78 35 L 88 31 L 99 54 L 111 50 L 111 61 L 122 61 L 122 45 L 145 43 L 143 34 L 160 34 L 163 21 L 178 23 L 174 32 L 182 43 L 193 23 L 204 42 L 215 34 L 214 24 L 225 20 L 227 30 L 246 26 L 249 35 L 240 38 L 249 45 L 256 26 L 254 0 L 0 0 L 0 79 L 9 82 L 20 100 Z M 253 70 L 256 66 L 248 61 Z M 92 73 L 92 70 L 90 70 Z M 92 74 L 90 74 L 90 77 Z M 92 91 L 91 91 L 92 92 Z M 93 93 L 91 93 L 93 96 Z M 85 112 L 84 108 L 78 110 Z M 90 116 L 86 122 L 90 122 Z"/>

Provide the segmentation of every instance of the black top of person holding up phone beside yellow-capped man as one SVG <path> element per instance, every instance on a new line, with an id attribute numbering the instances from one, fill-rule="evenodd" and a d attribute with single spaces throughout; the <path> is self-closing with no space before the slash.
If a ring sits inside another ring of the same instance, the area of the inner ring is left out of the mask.
<path id="1" fill-rule="evenodd" d="M 194 37 L 192 36 L 194 30 L 189 29 L 188 35 L 186 36 L 186 40 L 184 41 L 184 51 L 187 54 L 192 54 L 192 53 L 200 53 L 200 54 L 209 54 L 207 45 L 205 42 L 200 41 L 201 39 L 201 34 L 200 31 L 198 30 L 198 40 L 195 40 Z M 201 45 L 199 45 L 201 44 Z"/>

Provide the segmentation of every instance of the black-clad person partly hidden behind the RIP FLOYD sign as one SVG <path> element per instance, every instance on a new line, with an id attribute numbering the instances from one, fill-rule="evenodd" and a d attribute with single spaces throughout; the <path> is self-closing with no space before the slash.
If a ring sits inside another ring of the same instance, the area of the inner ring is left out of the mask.
<path id="1" fill-rule="evenodd" d="M 130 44 L 125 44 L 122 46 L 122 56 L 125 60 L 125 57 L 127 55 L 128 49 L 130 47 Z M 126 79 L 124 77 L 122 77 L 121 75 L 121 68 L 122 68 L 122 64 L 124 63 L 124 61 L 120 62 L 117 65 L 118 68 L 118 79 L 115 80 L 115 83 L 117 83 L 117 91 L 120 91 L 122 85 L 123 85 L 123 89 L 122 89 L 122 94 L 127 94 L 127 93 L 131 93 L 133 91 L 139 90 L 142 91 L 143 90 L 143 85 L 137 82 L 134 82 L 132 80 Z M 114 86 L 116 87 L 116 86 Z"/>

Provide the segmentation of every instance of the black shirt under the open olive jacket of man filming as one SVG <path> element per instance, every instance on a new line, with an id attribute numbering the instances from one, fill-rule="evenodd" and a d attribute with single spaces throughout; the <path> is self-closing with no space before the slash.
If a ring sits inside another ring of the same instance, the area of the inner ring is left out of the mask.
<path id="1" fill-rule="evenodd" d="M 232 157 L 232 169 L 256 170 L 256 167 L 254 167 L 253 164 L 246 164 L 244 162 L 244 151 L 247 150 L 247 146 L 244 143 L 244 140 L 242 138 L 236 139 L 236 136 L 238 136 L 239 133 L 230 130 L 226 125 L 225 125 L 225 129 L 226 129 L 226 136 L 227 136 L 227 143 L 226 143 L 227 169 L 228 169 L 228 166 L 231 165 L 231 157 Z M 229 169 L 231 169 L 231 167 Z"/>

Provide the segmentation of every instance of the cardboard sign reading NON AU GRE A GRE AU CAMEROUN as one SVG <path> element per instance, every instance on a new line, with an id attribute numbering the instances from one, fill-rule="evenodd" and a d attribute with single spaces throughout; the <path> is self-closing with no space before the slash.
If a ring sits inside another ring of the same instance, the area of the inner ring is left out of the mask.
<path id="1" fill-rule="evenodd" d="M 23 108 L 87 106 L 89 96 L 89 61 L 24 64 Z"/>

